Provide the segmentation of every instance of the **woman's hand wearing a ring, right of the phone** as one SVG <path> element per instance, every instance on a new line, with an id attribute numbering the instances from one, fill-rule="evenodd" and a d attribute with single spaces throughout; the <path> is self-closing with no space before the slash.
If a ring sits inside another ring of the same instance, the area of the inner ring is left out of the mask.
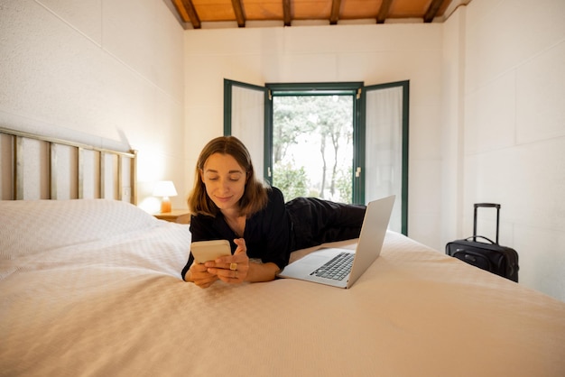
<path id="1" fill-rule="evenodd" d="M 231 284 L 243 282 L 249 271 L 249 257 L 247 256 L 245 240 L 243 238 L 236 238 L 234 243 L 237 245 L 237 248 L 233 255 L 205 263 L 209 273 L 218 276 L 219 280 Z"/>

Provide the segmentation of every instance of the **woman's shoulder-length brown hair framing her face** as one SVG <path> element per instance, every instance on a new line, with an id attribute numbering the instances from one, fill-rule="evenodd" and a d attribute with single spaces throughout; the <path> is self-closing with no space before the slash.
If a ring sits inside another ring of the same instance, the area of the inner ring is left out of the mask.
<path id="1" fill-rule="evenodd" d="M 206 186 L 202 181 L 201 171 L 204 170 L 204 164 L 214 153 L 229 154 L 236 159 L 247 176 L 245 182 L 244 196 L 239 199 L 240 216 L 251 216 L 255 212 L 260 211 L 267 205 L 267 190 L 271 189 L 265 186 L 263 181 L 255 177 L 255 170 L 249 151 L 245 148 L 235 136 L 220 136 L 212 139 L 200 152 L 199 160 L 196 162 L 196 170 L 194 175 L 194 187 L 190 191 L 188 204 L 190 212 L 193 215 L 217 216 L 219 209 L 214 202 L 208 198 Z"/>

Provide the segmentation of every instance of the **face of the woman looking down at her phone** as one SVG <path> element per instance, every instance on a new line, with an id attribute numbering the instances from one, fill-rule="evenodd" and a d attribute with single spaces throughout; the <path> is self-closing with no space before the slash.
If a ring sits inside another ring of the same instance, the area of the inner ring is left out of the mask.
<path id="1" fill-rule="evenodd" d="M 239 209 L 237 203 L 244 195 L 247 174 L 233 156 L 211 154 L 200 175 L 208 197 L 222 212 Z"/>

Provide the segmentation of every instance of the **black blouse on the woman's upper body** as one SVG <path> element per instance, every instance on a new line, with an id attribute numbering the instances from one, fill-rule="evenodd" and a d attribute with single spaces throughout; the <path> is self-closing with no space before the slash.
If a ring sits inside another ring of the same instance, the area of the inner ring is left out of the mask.
<path id="1" fill-rule="evenodd" d="M 281 270 L 288 264 L 292 247 L 292 226 L 284 205 L 280 189 L 268 191 L 268 203 L 261 211 L 247 218 L 243 238 L 249 258 L 258 258 L 262 262 L 273 262 Z M 227 240 L 232 253 L 236 251 L 234 239 L 238 238 L 227 225 L 224 216 L 197 215 L 190 218 L 192 241 Z M 182 269 L 182 279 L 189 271 L 194 257 L 190 253 L 189 261 Z"/>

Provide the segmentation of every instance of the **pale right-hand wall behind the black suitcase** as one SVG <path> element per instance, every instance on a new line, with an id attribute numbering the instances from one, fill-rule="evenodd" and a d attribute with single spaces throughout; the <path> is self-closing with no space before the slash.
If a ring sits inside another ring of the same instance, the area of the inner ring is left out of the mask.
<path id="1" fill-rule="evenodd" d="M 459 99 L 446 96 L 442 243 L 472 234 L 473 203 L 500 203 L 521 284 L 565 301 L 565 2 L 458 12 L 444 33 L 444 87 Z M 494 238 L 494 221 L 479 216 L 478 233 Z"/>

